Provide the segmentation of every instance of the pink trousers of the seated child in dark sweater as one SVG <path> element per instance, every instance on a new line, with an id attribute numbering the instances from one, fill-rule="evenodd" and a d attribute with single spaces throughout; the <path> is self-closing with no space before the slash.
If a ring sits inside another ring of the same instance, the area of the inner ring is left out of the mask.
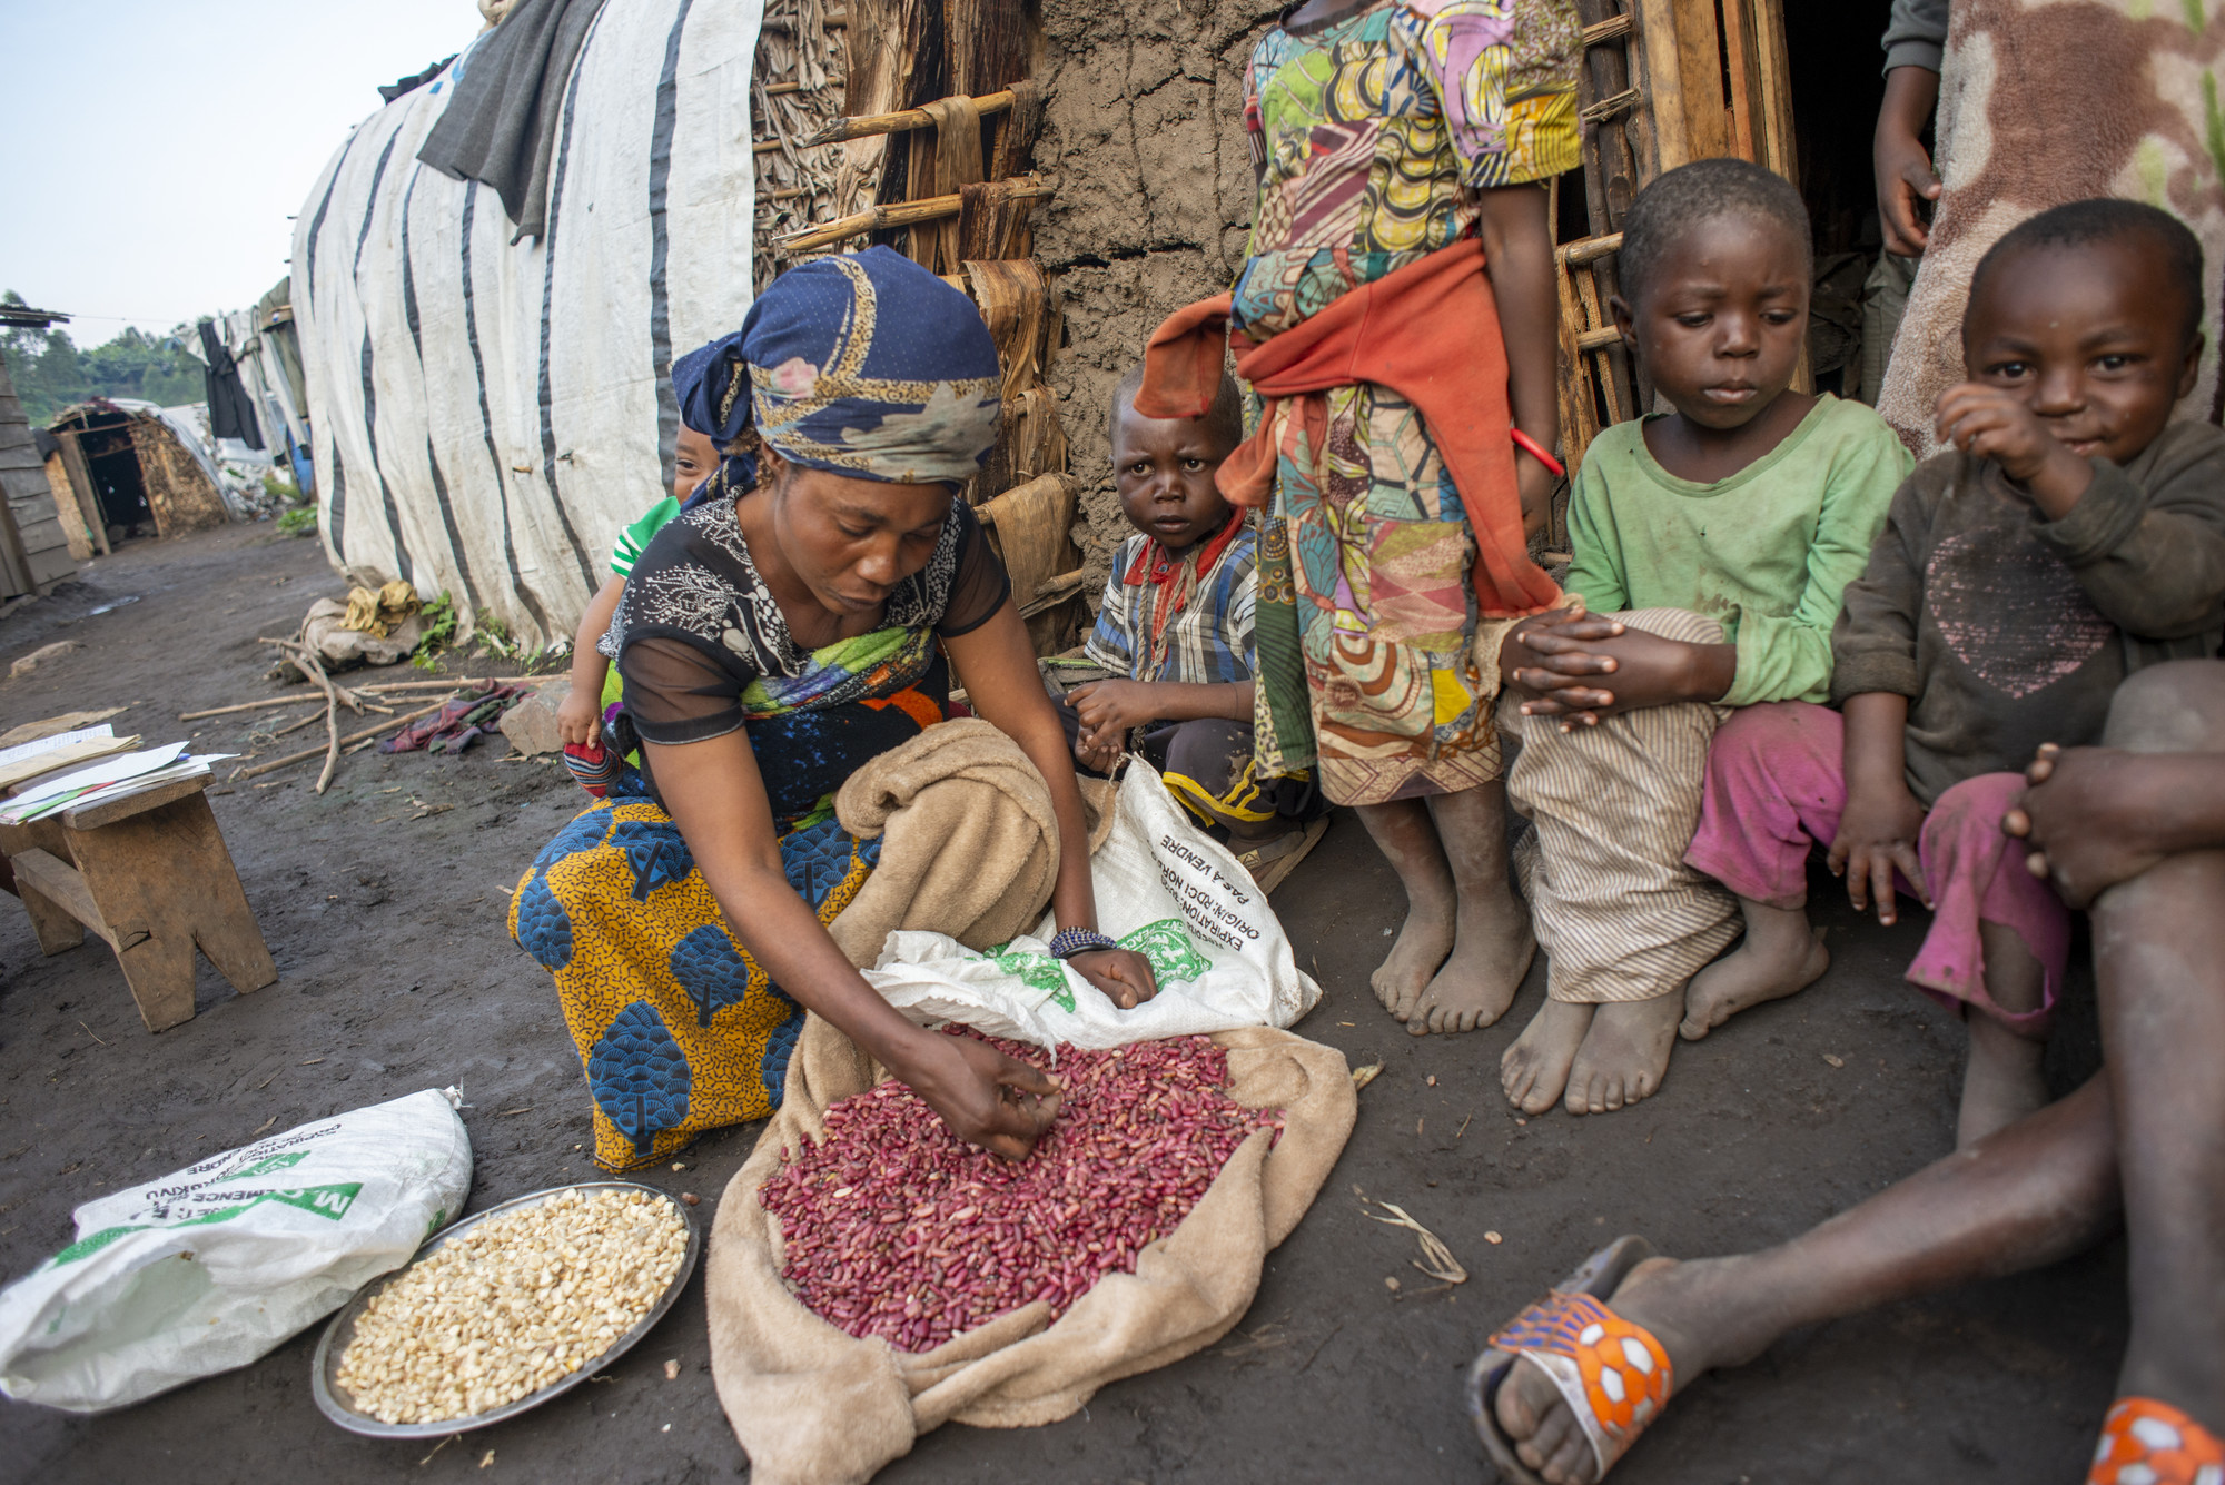
<path id="1" fill-rule="evenodd" d="M 1909 980 L 1942 1005 L 1971 1005 L 2040 1036 L 2056 1011 L 2069 958 L 2071 916 L 2000 834 L 2025 785 L 2018 774 L 1980 774 L 1947 789 L 1925 816 L 1916 854 L 1934 900 L 1931 931 Z M 1742 898 L 1769 907 L 1807 903 L 1807 858 L 1831 845 L 1847 809 L 1845 720 L 1829 707 L 1778 700 L 1740 709 L 1707 754 L 1700 829 L 1684 863 Z M 1909 891 L 1907 883 L 1898 883 Z M 1914 891 L 1911 891 L 1914 896 Z M 2011 1014 L 1985 989 L 1980 923 L 2007 927 L 2047 976 L 2036 1011 Z"/>

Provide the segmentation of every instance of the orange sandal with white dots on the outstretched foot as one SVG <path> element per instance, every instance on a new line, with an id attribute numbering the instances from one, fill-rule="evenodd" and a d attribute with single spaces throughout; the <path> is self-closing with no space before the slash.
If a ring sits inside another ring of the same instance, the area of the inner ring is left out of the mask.
<path id="1" fill-rule="evenodd" d="M 1468 1418 L 1502 1481 L 1542 1485 L 1515 1456 L 1497 1421 L 1500 1383 L 1524 1356 L 1553 1381 L 1591 1441 L 1595 1481 L 1660 1416 L 1669 1401 L 1669 1354 L 1642 1325 L 1631 1325 L 1604 1303 L 1651 1256 L 1644 1238 L 1615 1238 L 1491 1336 L 1489 1349 L 1468 1367 Z"/>

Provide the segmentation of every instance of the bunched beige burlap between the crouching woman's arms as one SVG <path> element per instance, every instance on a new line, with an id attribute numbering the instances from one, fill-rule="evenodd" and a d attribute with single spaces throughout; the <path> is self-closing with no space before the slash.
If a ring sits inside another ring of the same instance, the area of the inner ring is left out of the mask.
<path id="1" fill-rule="evenodd" d="M 1090 849 L 1112 829 L 1112 785 L 1079 778 Z M 1050 789 L 1012 738 L 981 718 L 928 727 L 861 767 L 834 796 L 857 836 L 886 836 L 881 865 L 828 934 L 861 969 L 897 929 L 988 949 L 1035 927 L 1059 878 Z"/>

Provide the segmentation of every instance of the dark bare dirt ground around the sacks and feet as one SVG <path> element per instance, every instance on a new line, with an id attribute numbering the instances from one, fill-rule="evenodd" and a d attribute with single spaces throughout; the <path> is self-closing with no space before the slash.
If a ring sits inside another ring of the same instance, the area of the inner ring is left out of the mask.
<path id="1" fill-rule="evenodd" d="M 316 542 L 269 527 L 134 542 L 82 576 L 82 591 L 0 620 L 0 665 L 56 638 L 85 642 L 0 682 L 0 727 L 131 702 L 118 725 L 174 738 L 178 711 L 269 694 L 269 651 L 254 636 L 291 631 L 314 598 L 340 591 Z M 93 614 L 120 598 L 138 602 Z M 196 747 L 245 740 L 236 718 L 216 722 L 198 725 Z M 309 789 L 312 769 L 218 789 L 216 816 L 280 980 L 236 996 L 202 965 L 200 1014 L 160 1036 L 140 1025 L 98 940 L 40 958 L 20 907 L 0 900 L 7 1276 L 71 1238 L 78 1203 L 256 1129 L 423 1087 L 465 1092 L 474 1207 L 592 1174 L 578 1149 L 587 1098 L 552 987 L 503 931 L 510 885 L 583 796 L 561 767 L 505 751 L 496 738 L 463 758 L 363 754 L 325 798 Z M 427 807 L 445 809 L 414 818 Z M 1302 1031 L 1355 1065 L 1382 1060 L 1384 1074 L 1242 1327 L 1106 1387 L 1066 1423 L 930 1434 L 886 1481 L 1480 1481 L 1462 1367 L 1598 1243 L 1642 1232 L 1669 1254 L 1753 1247 L 1951 1145 L 1962 1034 L 1900 983 L 1920 914 L 1880 931 L 1845 907 L 1822 911 L 1838 963 L 1820 985 L 1680 1045 L 1664 1092 L 1631 1112 L 1524 1123 L 1495 1069 L 1542 996 L 1542 969 L 1500 1027 L 1406 1036 L 1366 987 L 1397 920 L 1395 887 L 1348 818 L 1277 907 L 1326 989 Z M 2089 1000 L 2089 976 L 2074 996 Z M 2094 1058 L 2089 1011 L 2069 1023 L 2056 1056 L 2065 1085 Z M 685 1172 L 650 1180 L 701 1192 L 708 1225 L 754 1136 L 714 1134 L 685 1154 Z M 1355 1187 L 1411 1209 L 1473 1278 L 1451 1294 L 1393 1296 L 1386 1276 L 1426 1287 L 1408 1267 L 1413 1238 L 1366 1220 Z M 2109 1401 L 2123 1287 L 2112 1243 L 2043 1274 L 1796 1334 L 1682 1392 L 1613 1478 L 2067 1485 L 2083 1478 Z M 701 1289 L 699 1274 L 605 1378 L 429 1461 L 429 1445 L 354 1438 L 318 1416 L 309 1329 L 251 1367 L 113 1416 L 0 1405 L 0 1478 L 732 1478 L 748 1463 L 712 1392 Z M 665 1381 L 665 1358 L 681 1361 L 679 1381 Z"/>

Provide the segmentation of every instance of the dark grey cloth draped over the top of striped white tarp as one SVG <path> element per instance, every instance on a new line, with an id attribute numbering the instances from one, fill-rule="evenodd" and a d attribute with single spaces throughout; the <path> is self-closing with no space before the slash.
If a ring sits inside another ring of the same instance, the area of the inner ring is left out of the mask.
<path id="1" fill-rule="evenodd" d="M 550 156 L 565 80 L 603 0 L 521 0 L 465 53 L 454 98 L 418 149 L 449 180 L 485 180 L 516 222 L 510 238 L 547 229 Z"/>

